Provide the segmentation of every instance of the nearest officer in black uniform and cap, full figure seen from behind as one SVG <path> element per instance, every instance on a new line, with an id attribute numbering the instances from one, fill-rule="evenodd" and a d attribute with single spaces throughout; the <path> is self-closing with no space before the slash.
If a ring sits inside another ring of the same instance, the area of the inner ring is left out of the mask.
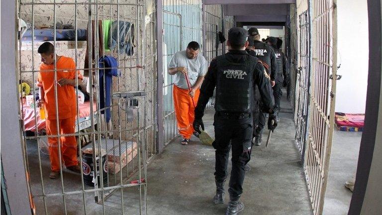
<path id="1" fill-rule="evenodd" d="M 215 204 L 224 203 L 224 182 L 227 178 L 229 151 L 232 147 L 232 171 L 228 193 L 230 200 L 226 215 L 236 215 L 243 211 L 239 202 L 243 193 L 245 176 L 244 166 L 251 156 L 251 137 L 253 130 L 252 98 L 254 86 L 261 94 L 264 110 L 271 113 L 269 129 L 275 129 L 273 115 L 273 95 L 269 80 L 264 75 L 264 67 L 255 57 L 250 56 L 245 47 L 248 32 L 244 28 L 234 27 L 228 32 L 229 52 L 211 61 L 204 82 L 200 88 L 199 100 L 195 108 L 193 128 L 200 133 L 204 129 L 202 116 L 209 98 L 216 87 L 215 101 Z"/>

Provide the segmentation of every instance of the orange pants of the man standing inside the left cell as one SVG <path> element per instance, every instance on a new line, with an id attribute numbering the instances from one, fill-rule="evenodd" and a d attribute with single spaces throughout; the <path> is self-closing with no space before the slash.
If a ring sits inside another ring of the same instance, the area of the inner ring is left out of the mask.
<path id="1" fill-rule="evenodd" d="M 61 134 L 74 134 L 76 117 L 59 119 L 59 128 Z M 48 135 L 57 135 L 57 121 L 56 119 L 46 119 L 46 131 Z M 49 157 L 51 169 L 54 172 L 60 171 L 60 159 L 58 156 L 58 137 L 49 137 Z M 61 158 L 65 166 L 78 165 L 77 160 L 77 141 L 76 136 L 65 136 L 60 138 Z"/>

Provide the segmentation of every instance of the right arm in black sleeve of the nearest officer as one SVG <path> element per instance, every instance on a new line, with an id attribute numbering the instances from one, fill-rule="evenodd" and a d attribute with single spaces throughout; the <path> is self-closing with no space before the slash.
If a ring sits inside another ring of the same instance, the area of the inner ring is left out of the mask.
<path id="1" fill-rule="evenodd" d="M 265 69 L 261 63 L 257 63 L 255 67 L 255 84 L 259 88 L 261 99 L 263 101 L 263 111 L 267 113 L 274 113 L 275 100 L 272 93 L 272 87 L 269 80 L 265 76 Z"/>

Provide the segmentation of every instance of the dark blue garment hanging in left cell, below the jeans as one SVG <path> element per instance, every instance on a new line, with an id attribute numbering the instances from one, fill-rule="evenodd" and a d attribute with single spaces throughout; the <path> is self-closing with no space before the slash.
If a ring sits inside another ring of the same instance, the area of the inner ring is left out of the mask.
<path id="1" fill-rule="evenodd" d="M 102 110 L 101 113 L 106 115 L 106 122 L 110 121 L 110 104 L 111 104 L 111 87 L 112 77 L 121 76 L 118 70 L 118 62 L 111 56 L 103 56 L 98 60 L 99 66 L 99 108 L 107 107 L 106 113 Z M 103 69 L 109 68 L 109 69 Z M 111 68 L 111 69 L 110 69 Z M 105 76 L 105 82 L 103 83 L 103 76 Z M 105 92 L 105 93 L 103 93 Z M 106 99 L 105 99 L 106 98 Z"/>

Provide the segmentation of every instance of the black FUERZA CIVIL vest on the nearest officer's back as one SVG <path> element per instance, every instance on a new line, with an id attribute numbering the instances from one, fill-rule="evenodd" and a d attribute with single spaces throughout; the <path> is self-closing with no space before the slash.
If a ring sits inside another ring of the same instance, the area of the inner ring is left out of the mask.
<path id="1" fill-rule="evenodd" d="M 216 58 L 216 111 L 251 112 L 257 60 L 248 54 L 246 57 L 243 63 L 230 62 L 225 54 Z"/>

